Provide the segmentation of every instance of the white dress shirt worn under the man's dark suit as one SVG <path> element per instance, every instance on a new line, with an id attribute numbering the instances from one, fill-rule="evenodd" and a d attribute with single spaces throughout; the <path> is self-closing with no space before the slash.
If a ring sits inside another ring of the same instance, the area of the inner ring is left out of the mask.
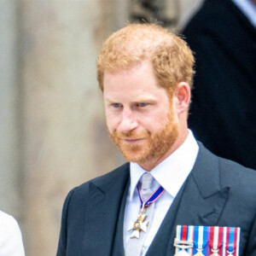
<path id="1" fill-rule="evenodd" d="M 175 152 L 169 155 L 165 160 L 160 162 L 158 166 L 150 172 L 154 177 L 154 189 L 157 189 L 159 184 L 166 190 L 163 195 L 160 196 L 158 201 L 154 202 L 154 217 L 150 230 L 147 232 L 147 237 L 143 245 L 143 251 L 141 256 L 145 255 L 148 251 L 148 247 L 154 240 L 154 236 L 159 230 L 160 224 L 166 216 L 166 212 L 172 205 L 172 201 L 177 195 L 178 190 L 183 185 L 184 181 L 192 170 L 195 159 L 198 153 L 198 144 L 195 141 L 195 137 L 192 131 L 189 131 L 189 136 L 185 142 L 177 148 Z M 137 191 L 137 183 L 143 176 L 143 173 L 147 172 L 143 170 L 137 163 L 130 163 L 131 184 L 127 195 L 125 205 L 125 218 L 124 218 L 124 246 L 126 247 L 127 241 L 131 236 L 132 230 L 127 231 L 130 226 L 130 222 L 133 223 L 137 220 L 138 213 L 140 212 L 140 200 Z M 143 232 L 143 231 L 141 231 Z M 135 238 L 133 238 L 135 239 Z"/>

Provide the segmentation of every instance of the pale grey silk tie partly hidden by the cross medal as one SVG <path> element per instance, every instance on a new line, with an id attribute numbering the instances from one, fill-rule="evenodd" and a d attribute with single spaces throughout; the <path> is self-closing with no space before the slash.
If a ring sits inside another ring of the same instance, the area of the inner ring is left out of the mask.
<path id="1" fill-rule="evenodd" d="M 151 189 L 152 182 L 154 177 L 149 173 L 145 172 L 142 177 L 142 185 L 141 185 L 141 195 L 143 197 L 143 201 L 148 201 L 150 195 L 152 195 L 153 190 Z M 151 225 L 151 220 L 154 214 L 154 203 L 150 204 L 146 209 L 147 218 L 145 222 L 148 222 L 148 231 Z M 130 238 L 127 246 L 125 248 L 125 256 L 139 256 L 141 255 L 143 243 L 146 239 L 147 233 L 143 230 L 140 231 L 139 238 Z"/>

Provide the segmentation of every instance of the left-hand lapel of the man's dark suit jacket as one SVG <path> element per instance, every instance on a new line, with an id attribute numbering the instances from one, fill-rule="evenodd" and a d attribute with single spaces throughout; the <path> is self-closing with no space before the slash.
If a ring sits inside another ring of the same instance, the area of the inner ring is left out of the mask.
<path id="1" fill-rule="evenodd" d="M 129 183 L 129 164 L 119 167 L 111 177 L 90 183 L 84 225 L 84 255 L 111 255 L 122 199 Z M 126 196 L 125 196 L 126 197 Z M 90 242 L 88 242 L 90 241 Z M 123 244 L 123 237 L 119 237 Z"/>

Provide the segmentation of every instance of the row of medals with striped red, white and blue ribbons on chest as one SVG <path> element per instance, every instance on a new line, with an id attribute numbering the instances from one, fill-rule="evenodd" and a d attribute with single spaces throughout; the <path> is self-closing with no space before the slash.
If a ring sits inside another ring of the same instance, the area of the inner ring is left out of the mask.
<path id="1" fill-rule="evenodd" d="M 240 228 L 177 225 L 174 256 L 238 256 Z"/>

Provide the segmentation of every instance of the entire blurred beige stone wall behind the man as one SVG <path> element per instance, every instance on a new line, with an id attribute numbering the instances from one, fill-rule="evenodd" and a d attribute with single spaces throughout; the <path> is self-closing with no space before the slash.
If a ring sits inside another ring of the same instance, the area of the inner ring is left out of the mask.
<path id="1" fill-rule="evenodd" d="M 165 1 L 165 0 L 163 0 Z M 173 29 L 202 0 L 177 6 Z M 26 255 L 55 255 L 70 189 L 124 162 L 108 138 L 96 55 L 130 0 L 0 0 L 0 209 Z"/>

